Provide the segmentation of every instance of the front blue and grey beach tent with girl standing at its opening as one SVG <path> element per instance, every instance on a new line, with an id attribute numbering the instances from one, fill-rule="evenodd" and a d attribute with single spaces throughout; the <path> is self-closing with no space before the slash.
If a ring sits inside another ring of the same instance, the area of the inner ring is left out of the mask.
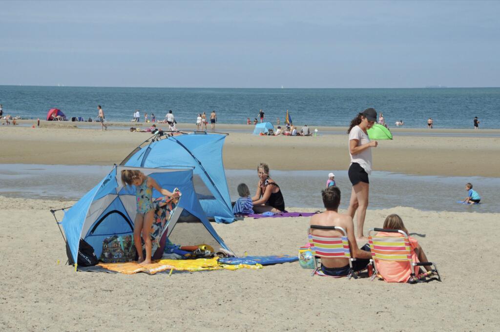
<path id="1" fill-rule="evenodd" d="M 122 169 L 138 169 L 151 176 L 159 186 L 173 191 L 177 187 L 182 196 L 170 217 L 167 236 L 173 243 L 208 244 L 230 251 L 205 216 L 192 183 L 192 169 L 159 169 L 114 166 L 95 187 L 65 211 L 62 228 L 73 261 L 77 261 L 80 238 L 90 244 L 97 257 L 102 252 L 102 241 L 112 235 L 132 235 L 136 214 L 134 186 L 123 186 Z M 161 194 L 153 189 L 153 198 Z M 182 218 L 190 222 L 178 222 Z"/>

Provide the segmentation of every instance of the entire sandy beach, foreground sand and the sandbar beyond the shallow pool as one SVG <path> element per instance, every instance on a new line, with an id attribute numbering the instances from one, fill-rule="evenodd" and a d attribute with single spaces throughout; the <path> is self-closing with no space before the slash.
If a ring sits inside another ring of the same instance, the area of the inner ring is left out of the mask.
<path id="1" fill-rule="evenodd" d="M 254 168 L 261 161 L 281 170 L 348 166 L 346 135 L 262 137 L 244 125 L 217 127 L 224 128 L 248 128 L 248 133 L 231 132 L 226 138 L 228 169 Z M 394 139 L 380 141 L 373 151 L 376 170 L 498 176 L 498 137 L 409 136 L 398 131 L 402 129 L 393 130 Z M 42 123 L 41 128 L 5 125 L 0 126 L 0 163 L 110 165 L 149 136 L 80 129 L 70 122 Z M 500 324 L 500 267 L 491 250 L 497 242 L 498 213 L 369 209 L 365 231 L 382 226 L 387 214 L 398 213 L 443 278 L 409 285 L 311 277 L 297 262 L 171 276 L 74 272 L 63 264 L 64 242 L 49 212 L 72 203 L 0 196 L 0 330 L 489 331 Z M 238 255 L 296 254 L 306 242 L 308 220 L 245 218 L 213 226 Z"/>

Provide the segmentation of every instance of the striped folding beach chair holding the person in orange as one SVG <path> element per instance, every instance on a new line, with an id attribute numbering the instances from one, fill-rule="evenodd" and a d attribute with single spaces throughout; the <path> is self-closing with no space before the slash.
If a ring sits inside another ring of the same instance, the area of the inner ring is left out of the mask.
<path id="1" fill-rule="evenodd" d="M 399 236 L 377 236 L 372 235 L 372 232 L 388 232 L 398 233 Z M 408 283 L 416 283 L 422 281 L 438 280 L 441 281 L 441 276 L 437 271 L 437 267 L 430 261 L 416 262 L 411 258 L 411 247 L 409 244 L 408 235 L 399 229 L 371 228 L 368 230 L 368 244 L 370 246 L 371 256 L 374 261 L 375 273 L 371 276 L 373 280 L 377 275 L 383 279 L 383 276 L 378 273 L 377 263 L 379 260 L 402 261 L 408 263 L 410 277 Z M 430 271 L 425 273 L 415 274 L 415 266 L 434 266 Z M 426 279 L 430 275 L 437 275 Z"/>

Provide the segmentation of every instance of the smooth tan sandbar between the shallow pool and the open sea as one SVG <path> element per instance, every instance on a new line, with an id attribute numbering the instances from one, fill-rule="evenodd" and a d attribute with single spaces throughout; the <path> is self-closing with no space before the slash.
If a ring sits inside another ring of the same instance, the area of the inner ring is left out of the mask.
<path id="1" fill-rule="evenodd" d="M 30 121 L 30 120 L 23 120 Z M 31 123 L 30 121 L 29 123 Z M 74 127 L 76 122 L 42 122 L 42 127 L 0 126 L 1 163 L 102 164 L 119 163 L 138 144 L 150 137 L 146 132 Z M 110 123 L 112 126 L 130 123 Z M 144 124 L 142 123 L 142 126 Z M 178 124 L 192 130 L 194 125 Z M 255 136 L 252 125 L 219 125 L 216 129 L 248 129 L 230 133 L 224 144 L 223 161 L 228 169 L 251 169 L 267 162 L 280 170 L 345 170 L 348 168 L 347 136 L 317 137 Z M 346 128 L 319 127 L 320 132 Z M 468 133 L 469 129 L 432 129 L 435 133 Z M 393 140 L 380 140 L 374 148 L 373 169 L 423 175 L 490 176 L 500 174 L 500 137 L 418 136 L 400 131 L 428 133 L 428 129 L 393 129 Z M 480 130 L 498 133 L 499 130 Z"/>

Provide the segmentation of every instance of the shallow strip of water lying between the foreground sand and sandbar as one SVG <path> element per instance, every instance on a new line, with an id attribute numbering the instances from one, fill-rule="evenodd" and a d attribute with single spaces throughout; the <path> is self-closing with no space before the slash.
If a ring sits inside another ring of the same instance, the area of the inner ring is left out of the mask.
<path id="1" fill-rule="evenodd" d="M 34 165 L 0 164 L 0 194 L 10 197 L 78 200 L 102 177 L 111 166 L 98 165 Z M 321 189 L 329 170 L 271 171 L 279 184 L 286 206 L 322 209 Z M 57 175 L 54 181 L 53 174 Z M 236 187 L 244 182 L 255 192 L 258 181 L 255 170 L 226 169 L 225 175 L 231 200 L 236 200 Z M 346 170 L 335 170 L 337 186 L 342 191 L 340 208 L 349 203 L 351 184 Z M 481 204 L 458 204 L 466 195 L 465 183 L 471 182 L 481 195 Z M 500 212 L 498 187 L 500 177 L 479 176 L 420 176 L 373 171 L 370 175 L 370 209 L 411 206 L 420 210 Z"/>

